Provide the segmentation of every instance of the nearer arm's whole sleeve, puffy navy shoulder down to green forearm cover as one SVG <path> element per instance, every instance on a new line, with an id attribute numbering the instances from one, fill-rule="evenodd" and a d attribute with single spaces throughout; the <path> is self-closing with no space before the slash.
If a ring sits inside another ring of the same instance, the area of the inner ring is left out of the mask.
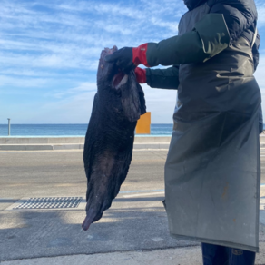
<path id="1" fill-rule="evenodd" d="M 209 0 L 210 14 L 181 36 L 147 46 L 149 66 L 202 63 L 220 54 L 257 20 L 254 0 Z"/>

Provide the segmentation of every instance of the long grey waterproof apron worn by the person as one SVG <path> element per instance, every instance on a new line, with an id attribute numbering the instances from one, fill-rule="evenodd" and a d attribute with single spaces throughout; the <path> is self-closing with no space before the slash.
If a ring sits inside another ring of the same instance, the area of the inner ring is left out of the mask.
<path id="1" fill-rule="evenodd" d="M 209 13 L 183 15 L 179 34 Z M 204 64 L 182 64 L 165 164 L 172 237 L 259 250 L 260 88 L 243 38 Z"/>

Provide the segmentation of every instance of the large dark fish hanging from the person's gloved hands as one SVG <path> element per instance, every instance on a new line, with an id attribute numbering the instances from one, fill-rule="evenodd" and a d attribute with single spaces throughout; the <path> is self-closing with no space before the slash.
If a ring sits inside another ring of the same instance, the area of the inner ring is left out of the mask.
<path id="1" fill-rule="evenodd" d="M 83 147 L 87 178 L 86 217 L 82 228 L 99 221 L 120 191 L 132 161 L 134 130 L 146 112 L 144 93 L 134 71 L 123 73 L 104 58 L 117 51 L 104 48 L 97 71 L 97 92 Z"/>

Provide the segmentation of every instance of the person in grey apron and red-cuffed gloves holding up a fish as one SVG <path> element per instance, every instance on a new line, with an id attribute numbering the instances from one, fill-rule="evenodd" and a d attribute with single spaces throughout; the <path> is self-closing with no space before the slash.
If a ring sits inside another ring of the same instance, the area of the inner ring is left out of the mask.
<path id="1" fill-rule="evenodd" d="M 203 264 L 254 264 L 263 130 L 254 0 L 184 0 L 179 34 L 107 56 L 139 83 L 177 89 L 165 164 L 170 233 L 202 245 Z M 136 66 L 145 65 L 146 69 Z M 167 69 L 150 69 L 159 64 Z"/>

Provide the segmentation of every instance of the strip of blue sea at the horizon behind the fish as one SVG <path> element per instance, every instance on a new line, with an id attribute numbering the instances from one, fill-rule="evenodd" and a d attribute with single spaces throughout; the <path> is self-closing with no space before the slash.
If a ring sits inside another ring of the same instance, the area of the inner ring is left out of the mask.
<path id="1" fill-rule="evenodd" d="M 171 135 L 173 124 L 151 124 L 151 135 Z M 12 124 L 10 136 L 85 136 L 87 124 Z M 0 124 L 0 137 L 8 136 L 8 124 Z"/>

